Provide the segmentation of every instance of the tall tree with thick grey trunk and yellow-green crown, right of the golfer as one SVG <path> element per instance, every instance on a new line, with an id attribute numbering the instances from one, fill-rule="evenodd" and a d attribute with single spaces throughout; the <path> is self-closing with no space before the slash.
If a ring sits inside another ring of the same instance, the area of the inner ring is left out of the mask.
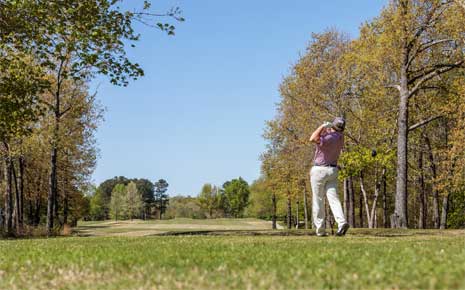
<path id="1" fill-rule="evenodd" d="M 398 0 L 381 18 L 385 31 L 381 37 L 391 37 L 392 43 L 398 44 L 398 49 L 391 51 L 399 59 L 399 66 L 393 71 L 396 77 L 386 84 L 399 93 L 395 227 L 408 227 L 409 131 L 438 118 L 432 115 L 409 125 L 409 103 L 420 91 L 440 87 L 441 75 L 465 67 L 465 22 L 458 8 L 454 1 Z"/>

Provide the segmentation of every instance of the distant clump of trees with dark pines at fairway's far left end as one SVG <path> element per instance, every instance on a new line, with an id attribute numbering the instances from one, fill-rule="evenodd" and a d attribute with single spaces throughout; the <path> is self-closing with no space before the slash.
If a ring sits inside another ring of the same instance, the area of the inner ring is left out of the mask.
<path id="1" fill-rule="evenodd" d="M 169 205 L 168 182 L 160 179 L 114 177 L 102 182 L 88 196 L 87 220 L 162 219 Z"/>

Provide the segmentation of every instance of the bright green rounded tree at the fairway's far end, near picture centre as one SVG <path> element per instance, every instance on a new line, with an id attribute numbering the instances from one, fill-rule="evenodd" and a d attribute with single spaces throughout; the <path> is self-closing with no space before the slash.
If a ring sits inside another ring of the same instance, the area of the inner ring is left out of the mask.
<path id="1" fill-rule="evenodd" d="M 228 213 L 234 217 L 242 217 L 249 202 L 250 189 L 248 183 L 241 177 L 226 181 L 223 184 L 224 196 L 227 201 Z"/>

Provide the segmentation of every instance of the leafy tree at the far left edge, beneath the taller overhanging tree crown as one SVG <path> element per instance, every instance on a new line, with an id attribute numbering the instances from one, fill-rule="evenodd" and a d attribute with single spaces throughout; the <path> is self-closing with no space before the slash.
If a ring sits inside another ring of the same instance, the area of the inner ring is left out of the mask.
<path id="1" fill-rule="evenodd" d="M 13 185 L 16 182 L 13 176 L 14 162 L 18 157 L 21 160 L 21 152 L 14 145 L 30 134 L 34 122 L 42 113 L 39 94 L 46 87 L 46 80 L 42 70 L 34 66 L 33 58 L 12 52 L 3 45 L 0 45 L 0 71 L 0 142 L 6 180 L 5 228 L 8 235 L 13 235 L 13 224 L 16 224 L 18 234 L 22 228 L 19 196 L 22 192 L 16 191 L 16 196 L 13 196 Z M 14 211 L 14 207 L 17 210 Z"/>

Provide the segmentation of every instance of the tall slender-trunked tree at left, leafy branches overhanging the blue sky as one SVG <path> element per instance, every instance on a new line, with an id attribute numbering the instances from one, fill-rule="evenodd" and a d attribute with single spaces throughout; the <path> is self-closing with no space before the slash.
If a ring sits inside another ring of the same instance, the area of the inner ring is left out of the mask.
<path id="1" fill-rule="evenodd" d="M 13 29 L 0 34 L 2 42 L 19 51 L 34 52 L 39 67 L 47 69 L 51 76 L 50 94 L 54 96 L 47 107 L 54 115 L 51 138 L 50 181 L 47 204 L 47 231 L 52 234 L 54 208 L 58 196 L 58 159 L 60 151 L 59 130 L 62 117 L 70 107 L 61 104 L 62 85 L 68 80 L 88 80 L 94 74 L 110 77 L 115 85 L 127 85 L 128 79 L 143 75 L 143 70 L 126 56 L 126 43 L 133 43 L 139 35 L 133 29 L 133 21 L 148 24 L 160 16 L 149 13 L 150 3 L 144 2 L 141 12 L 122 11 L 119 1 L 11 1 L 4 3 L 2 9 L 8 9 L 3 24 L 7 28 L 18 26 L 21 33 Z M 26 16 L 32 20 L 20 21 Z M 182 21 L 179 9 L 167 13 L 167 16 Z M 10 19 L 11 18 L 11 19 Z M 149 18 L 147 20 L 147 18 Z M 10 21 L 12 20 L 12 21 Z M 157 27 L 174 33 L 174 26 L 157 23 Z"/>

